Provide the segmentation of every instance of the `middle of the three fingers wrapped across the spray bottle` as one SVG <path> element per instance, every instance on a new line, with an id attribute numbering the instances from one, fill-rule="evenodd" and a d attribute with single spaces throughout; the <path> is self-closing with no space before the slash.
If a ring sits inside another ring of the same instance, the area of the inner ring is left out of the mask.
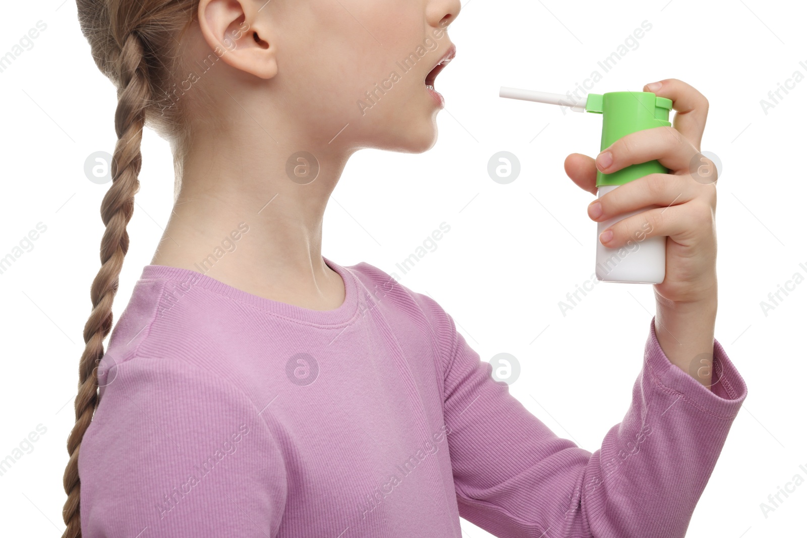
<path id="1" fill-rule="evenodd" d="M 689 202 L 699 194 L 692 177 L 651 173 L 629 181 L 590 203 L 588 216 L 596 222 L 603 222 L 642 207 L 667 207 Z"/>

